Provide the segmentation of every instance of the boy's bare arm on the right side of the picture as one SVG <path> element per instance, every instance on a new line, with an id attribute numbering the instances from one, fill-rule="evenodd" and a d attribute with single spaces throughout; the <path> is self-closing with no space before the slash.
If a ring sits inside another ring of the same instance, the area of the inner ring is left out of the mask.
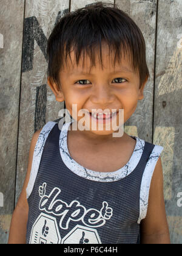
<path id="1" fill-rule="evenodd" d="M 150 185 L 147 216 L 141 221 L 141 243 L 170 244 L 163 194 L 163 168 L 160 157 Z"/>

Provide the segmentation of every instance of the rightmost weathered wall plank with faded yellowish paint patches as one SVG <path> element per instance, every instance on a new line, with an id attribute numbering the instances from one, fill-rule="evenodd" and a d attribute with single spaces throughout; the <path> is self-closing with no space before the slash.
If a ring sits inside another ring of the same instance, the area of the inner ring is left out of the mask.
<path id="1" fill-rule="evenodd" d="M 160 0 L 158 4 L 155 82 L 154 142 L 164 146 L 164 196 L 171 243 L 182 243 L 182 2 Z"/>

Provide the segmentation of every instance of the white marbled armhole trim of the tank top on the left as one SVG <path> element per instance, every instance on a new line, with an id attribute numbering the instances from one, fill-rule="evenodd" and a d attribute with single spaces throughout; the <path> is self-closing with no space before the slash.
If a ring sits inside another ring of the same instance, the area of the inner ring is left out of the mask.
<path id="1" fill-rule="evenodd" d="M 33 152 L 33 159 L 32 159 L 32 169 L 30 171 L 30 179 L 29 183 L 26 188 L 27 192 L 27 199 L 29 198 L 30 194 L 32 193 L 34 183 L 36 180 L 36 176 L 38 174 L 39 165 L 41 162 L 42 152 L 44 149 L 45 141 L 47 140 L 47 137 L 49 136 L 50 131 L 55 126 L 55 122 L 49 121 L 47 124 L 45 124 L 44 127 L 42 127 L 41 132 L 39 133 L 38 140 L 35 144 L 35 149 Z"/>

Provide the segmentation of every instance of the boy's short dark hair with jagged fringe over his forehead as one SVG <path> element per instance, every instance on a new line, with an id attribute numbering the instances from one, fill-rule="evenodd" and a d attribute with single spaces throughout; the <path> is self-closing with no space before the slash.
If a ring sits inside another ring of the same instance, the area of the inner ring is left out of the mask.
<path id="1" fill-rule="evenodd" d="M 62 16 L 48 40 L 47 76 L 59 85 L 59 71 L 64 67 L 64 63 L 67 63 L 67 55 L 70 55 L 71 49 L 75 52 L 76 65 L 81 53 L 85 56 L 87 52 L 92 68 L 92 65 L 95 65 L 95 49 L 98 48 L 102 63 L 103 41 L 109 49 L 115 51 L 114 65 L 116 59 L 120 63 L 123 54 L 130 56 L 133 68 L 140 76 L 141 87 L 150 76 L 143 34 L 135 22 L 111 2 L 96 2 Z"/>

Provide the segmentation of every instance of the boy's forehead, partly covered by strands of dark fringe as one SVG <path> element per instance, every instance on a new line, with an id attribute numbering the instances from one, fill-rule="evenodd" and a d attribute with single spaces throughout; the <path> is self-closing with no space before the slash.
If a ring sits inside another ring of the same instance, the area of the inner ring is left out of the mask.
<path id="1" fill-rule="evenodd" d="M 92 55 L 90 56 L 90 54 Z M 127 73 L 135 73 L 129 52 L 122 52 L 122 57 L 118 58 L 115 56 L 115 52 L 105 43 L 102 43 L 101 49 L 95 48 L 92 53 L 81 52 L 78 63 L 76 63 L 75 51 L 72 48 L 60 72 L 70 75 L 90 73 L 92 69 L 105 69 L 109 72 L 120 69 Z"/>

